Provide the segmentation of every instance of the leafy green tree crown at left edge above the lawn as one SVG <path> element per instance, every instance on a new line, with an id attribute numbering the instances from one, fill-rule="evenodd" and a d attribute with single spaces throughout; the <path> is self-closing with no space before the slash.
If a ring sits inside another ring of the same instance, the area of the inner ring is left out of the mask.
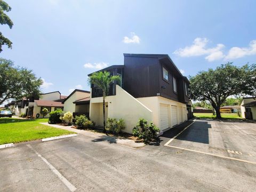
<path id="1" fill-rule="evenodd" d="M 13 61 L 0 58 L 0 105 L 8 99 L 38 95 L 42 84 L 31 70 L 14 67 Z"/>

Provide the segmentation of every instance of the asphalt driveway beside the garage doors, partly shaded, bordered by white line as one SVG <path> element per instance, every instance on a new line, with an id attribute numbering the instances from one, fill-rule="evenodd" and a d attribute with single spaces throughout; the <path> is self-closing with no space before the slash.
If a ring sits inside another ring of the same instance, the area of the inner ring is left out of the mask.
<path id="1" fill-rule="evenodd" d="M 256 124 L 240 121 L 197 120 L 186 130 L 170 130 L 165 146 L 249 162 L 256 166 Z M 173 135 L 177 135 L 175 139 Z"/>

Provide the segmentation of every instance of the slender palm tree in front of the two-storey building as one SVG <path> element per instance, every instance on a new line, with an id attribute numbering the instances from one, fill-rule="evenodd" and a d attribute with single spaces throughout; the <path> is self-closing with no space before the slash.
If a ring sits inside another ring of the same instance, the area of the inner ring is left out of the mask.
<path id="1" fill-rule="evenodd" d="M 110 76 L 110 73 L 108 71 L 99 71 L 97 73 L 93 73 L 88 79 L 88 82 L 90 84 L 94 84 L 99 87 L 99 89 L 101 89 L 103 93 L 103 132 L 106 132 L 105 98 L 107 97 L 110 84 L 114 81 L 119 83 L 120 80 L 120 76 Z"/>

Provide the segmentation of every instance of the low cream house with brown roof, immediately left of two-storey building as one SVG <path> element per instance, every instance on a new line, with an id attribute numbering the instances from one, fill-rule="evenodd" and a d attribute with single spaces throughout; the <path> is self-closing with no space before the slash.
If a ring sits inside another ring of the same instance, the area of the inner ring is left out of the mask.
<path id="1" fill-rule="evenodd" d="M 90 91 L 74 90 L 62 101 L 64 111 L 70 111 L 73 116 L 86 115 L 89 117 L 90 111 Z"/>

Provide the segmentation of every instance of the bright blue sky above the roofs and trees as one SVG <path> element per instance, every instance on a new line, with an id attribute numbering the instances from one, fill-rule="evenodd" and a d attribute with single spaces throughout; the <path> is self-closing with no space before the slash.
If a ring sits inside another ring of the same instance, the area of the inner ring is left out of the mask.
<path id="1" fill-rule="evenodd" d="M 1 57 L 33 69 L 43 92 L 90 90 L 87 74 L 123 65 L 123 53 L 169 54 L 183 75 L 256 62 L 256 1 L 7 1 L 13 48 Z"/>

